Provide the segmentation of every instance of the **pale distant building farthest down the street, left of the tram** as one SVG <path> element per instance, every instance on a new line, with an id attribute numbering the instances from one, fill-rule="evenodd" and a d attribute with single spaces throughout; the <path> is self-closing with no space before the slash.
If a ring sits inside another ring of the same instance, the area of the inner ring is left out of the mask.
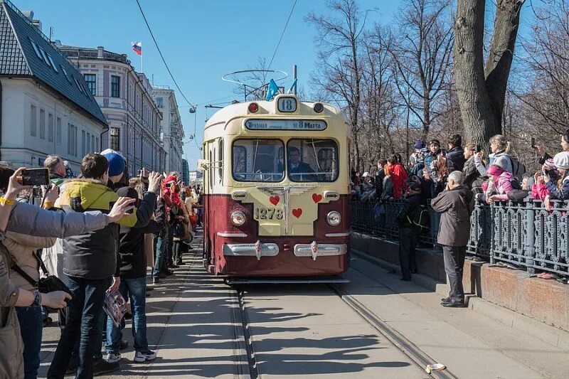
<path id="1" fill-rule="evenodd" d="M 184 155 L 184 127 L 176 102 L 174 90 L 167 86 L 154 85 L 154 102 L 162 114 L 160 139 L 166 151 L 166 172 L 176 171 L 181 174 L 182 156 Z"/>

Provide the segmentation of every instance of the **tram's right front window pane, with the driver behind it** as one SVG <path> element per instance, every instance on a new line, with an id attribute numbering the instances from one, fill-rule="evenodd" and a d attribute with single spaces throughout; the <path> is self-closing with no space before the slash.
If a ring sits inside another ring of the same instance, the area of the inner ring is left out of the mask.
<path id="1" fill-rule="evenodd" d="M 290 139 L 287 168 L 291 181 L 336 181 L 338 145 L 331 139 Z"/>

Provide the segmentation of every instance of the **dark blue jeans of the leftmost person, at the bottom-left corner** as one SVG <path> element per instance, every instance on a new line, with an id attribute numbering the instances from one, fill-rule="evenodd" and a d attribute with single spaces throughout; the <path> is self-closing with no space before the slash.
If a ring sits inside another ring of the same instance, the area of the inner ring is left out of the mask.
<path id="1" fill-rule="evenodd" d="M 41 306 L 17 306 L 18 321 L 23 340 L 23 378 L 38 378 L 40 367 L 43 319 Z"/>

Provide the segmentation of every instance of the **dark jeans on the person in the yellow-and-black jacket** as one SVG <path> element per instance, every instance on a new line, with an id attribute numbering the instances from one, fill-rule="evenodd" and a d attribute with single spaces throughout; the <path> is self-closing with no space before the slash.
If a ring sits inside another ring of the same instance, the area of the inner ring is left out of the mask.
<path id="1" fill-rule="evenodd" d="M 69 301 L 68 320 L 61 332 L 48 377 L 63 379 L 75 343 L 80 338 L 79 365 L 75 378 L 92 378 L 95 341 L 100 341 L 97 334 L 102 333 L 99 329 L 99 319 L 105 292 L 111 282 L 111 277 L 98 280 L 69 277 L 68 287 L 73 299 Z"/>

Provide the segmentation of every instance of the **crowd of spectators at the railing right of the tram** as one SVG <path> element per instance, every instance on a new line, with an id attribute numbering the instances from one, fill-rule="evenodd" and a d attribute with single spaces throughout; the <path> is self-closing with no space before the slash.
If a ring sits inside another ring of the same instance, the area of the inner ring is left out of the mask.
<path id="1" fill-rule="evenodd" d="M 554 156 L 542 146 L 532 146 L 541 169 L 529 174 L 513 144 L 501 134 L 489 140 L 488 156 L 477 144 L 463 146 L 459 134 L 452 135 L 447 146 L 437 139 L 428 145 L 418 140 L 407 162 L 400 154 L 393 154 L 379 159 L 373 171 L 353 173 L 352 198 L 376 203 L 378 223 L 385 220 L 385 202 L 400 199 L 402 206 L 396 222 L 402 280 L 410 280 L 416 272 L 418 237 L 433 220 L 427 210 L 430 204 L 437 215 L 437 242 L 442 246 L 451 288 L 441 305 L 464 306 L 462 267 L 474 200 L 505 204 L 533 198 L 543 201 L 547 210 L 553 210 L 555 200 L 569 199 L 569 130 L 560 136 L 560 145 L 562 151 Z M 553 278 L 547 272 L 540 275 Z"/>

